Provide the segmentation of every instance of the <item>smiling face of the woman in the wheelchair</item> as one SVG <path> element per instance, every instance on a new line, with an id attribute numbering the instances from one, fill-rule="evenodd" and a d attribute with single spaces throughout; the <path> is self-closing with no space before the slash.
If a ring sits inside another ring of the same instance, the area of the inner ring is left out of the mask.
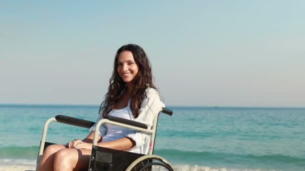
<path id="1" fill-rule="evenodd" d="M 124 82 L 131 82 L 136 76 L 139 68 L 134 61 L 131 51 L 124 50 L 119 53 L 117 61 L 117 72 Z"/>

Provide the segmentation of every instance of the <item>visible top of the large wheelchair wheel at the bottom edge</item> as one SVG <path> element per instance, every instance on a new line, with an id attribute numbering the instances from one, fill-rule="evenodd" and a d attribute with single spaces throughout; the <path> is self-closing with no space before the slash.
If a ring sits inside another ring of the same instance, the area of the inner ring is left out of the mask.
<path id="1" fill-rule="evenodd" d="M 126 170 L 130 171 L 173 171 L 173 166 L 165 158 L 158 155 L 144 155 L 134 160 Z"/>

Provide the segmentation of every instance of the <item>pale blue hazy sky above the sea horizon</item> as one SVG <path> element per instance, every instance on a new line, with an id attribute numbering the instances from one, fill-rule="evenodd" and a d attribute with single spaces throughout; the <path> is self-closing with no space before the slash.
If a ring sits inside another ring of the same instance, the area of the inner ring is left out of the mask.
<path id="1" fill-rule="evenodd" d="M 0 103 L 100 104 L 140 45 L 172 106 L 305 106 L 303 0 L 1 0 Z"/>

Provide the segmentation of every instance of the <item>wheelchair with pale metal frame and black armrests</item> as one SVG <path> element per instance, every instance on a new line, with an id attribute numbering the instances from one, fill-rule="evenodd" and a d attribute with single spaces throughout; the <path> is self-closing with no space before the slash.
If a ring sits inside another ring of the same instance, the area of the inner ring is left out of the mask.
<path id="1" fill-rule="evenodd" d="M 128 151 L 122 151 L 122 150 L 116 150 L 111 148 L 105 148 L 101 146 L 97 146 L 97 139 L 98 139 L 98 131 L 94 131 L 93 136 L 93 142 L 92 142 L 92 151 L 90 156 L 90 163 L 89 163 L 89 171 L 94 170 L 132 170 L 132 171 L 138 171 L 138 170 L 174 170 L 173 166 L 170 164 L 168 160 L 165 158 L 154 155 L 154 146 L 155 146 L 155 139 L 156 139 L 156 131 L 157 131 L 157 123 L 159 114 L 163 112 L 168 115 L 172 115 L 173 111 L 168 108 L 162 108 L 162 111 L 158 113 L 158 115 L 154 118 L 153 126 L 151 126 L 150 129 L 147 128 L 147 126 L 143 123 L 139 123 L 136 121 L 123 119 L 120 117 L 114 117 L 114 116 L 105 116 L 102 119 L 100 119 L 96 123 L 95 130 L 99 130 L 99 127 L 103 123 L 110 123 L 115 124 L 118 126 L 128 127 L 131 129 L 143 131 L 150 133 L 150 144 L 149 144 L 149 150 L 148 154 L 139 154 L 139 153 L 133 153 Z M 74 126 L 80 126 L 84 128 L 90 128 L 95 122 L 84 120 L 80 118 L 70 117 L 66 115 L 56 115 L 55 117 L 49 118 L 43 128 L 40 147 L 39 147 L 39 153 L 37 157 L 37 171 L 43 171 L 38 170 L 38 166 L 40 163 L 40 159 L 42 157 L 42 154 L 44 152 L 44 149 L 51 144 L 54 144 L 52 142 L 46 142 L 46 135 L 48 130 L 48 125 L 50 122 L 61 122 L 65 124 L 70 124 Z"/>

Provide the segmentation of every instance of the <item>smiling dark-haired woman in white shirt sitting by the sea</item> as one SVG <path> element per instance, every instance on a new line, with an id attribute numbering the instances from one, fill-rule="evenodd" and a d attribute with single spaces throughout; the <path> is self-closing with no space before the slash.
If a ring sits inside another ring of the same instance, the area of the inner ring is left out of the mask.
<path id="1" fill-rule="evenodd" d="M 162 110 L 159 93 L 153 84 L 150 62 L 144 50 L 136 44 L 120 47 L 115 55 L 110 85 L 99 109 L 101 119 L 112 115 L 144 123 L 150 128 L 154 117 Z M 83 139 L 66 145 L 48 146 L 41 158 L 39 170 L 81 170 L 89 167 L 95 125 Z M 147 154 L 147 133 L 112 124 L 102 124 L 97 145 Z"/>

